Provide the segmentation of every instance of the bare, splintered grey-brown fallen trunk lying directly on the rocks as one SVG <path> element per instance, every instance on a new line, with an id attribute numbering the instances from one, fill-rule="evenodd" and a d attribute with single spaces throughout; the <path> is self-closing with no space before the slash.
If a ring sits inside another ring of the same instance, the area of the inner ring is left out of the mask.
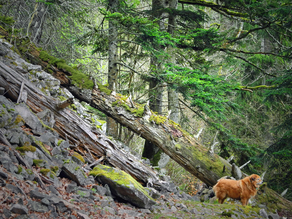
<path id="1" fill-rule="evenodd" d="M 75 145 L 82 154 L 89 153 L 93 156 L 91 162 L 105 155 L 106 150 L 110 150 L 112 166 L 129 173 L 133 178 L 145 184 L 148 181 L 158 180 L 156 170 L 141 163 L 132 154 L 120 150 L 114 142 L 99 131 L 93 130 L 92 126 L 75 112 L 60 109 L 57 100 L 43 93 L 23 76 L 24 74 L 20 74 L 0 62 L 0 86 L 5 88 L 5 95 L 16 101 L 22 81 L 24 81 L 24 90 L 27 92 L 26 104 L 30 109 L 34 113 L 50 109 L 55 115 L 54 129 L 64 139 L 68 138 L 70 143 Z"/>

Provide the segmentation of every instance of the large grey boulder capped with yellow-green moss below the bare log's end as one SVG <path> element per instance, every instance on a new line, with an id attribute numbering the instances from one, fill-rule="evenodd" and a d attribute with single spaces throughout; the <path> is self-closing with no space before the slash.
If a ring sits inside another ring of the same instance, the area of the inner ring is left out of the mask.
<path id="1" fill-rule="evenodd" d="M 131 175 L 113 167 L 98 165 L 89 173 L 102 184 L 107 184 L 111 192 L 139 208 L 150 208 L 156 204 L 145 188 Z"/>

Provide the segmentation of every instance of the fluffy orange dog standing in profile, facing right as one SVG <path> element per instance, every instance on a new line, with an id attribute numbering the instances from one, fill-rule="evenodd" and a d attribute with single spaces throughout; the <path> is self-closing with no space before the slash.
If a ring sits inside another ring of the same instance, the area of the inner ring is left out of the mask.
<path id="1" fill-rule="evenodd" d="M 214 185 L 213 190 L 220 204 L 230 197 L 240 200 L 245 206 L 249 199 L 256 195 L 257 189 L 262 183 L 260 176 L 253 174 L 242 180 L 221 179 Z"/>

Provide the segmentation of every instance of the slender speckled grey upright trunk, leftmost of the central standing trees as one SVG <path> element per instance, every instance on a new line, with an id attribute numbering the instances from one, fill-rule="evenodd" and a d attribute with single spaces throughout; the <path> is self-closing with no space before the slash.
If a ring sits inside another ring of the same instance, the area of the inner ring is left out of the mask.
<path id="1" fill-rule="evenodd" d="M 117 0 L 109 0 L 109 11 L 111 13 L 117 12 L 118 1 Z M 115 87 L 117 86 L 117 78 L 118 78 L 118 30 L 116 25 L 109 20 L 109 58 L 108 58 L 108 88 L 109 90 L 115 91 Z M 117 122 L 112 118 L 107 117 L 107 133 L 114 138 L 117 138 Z"/>

